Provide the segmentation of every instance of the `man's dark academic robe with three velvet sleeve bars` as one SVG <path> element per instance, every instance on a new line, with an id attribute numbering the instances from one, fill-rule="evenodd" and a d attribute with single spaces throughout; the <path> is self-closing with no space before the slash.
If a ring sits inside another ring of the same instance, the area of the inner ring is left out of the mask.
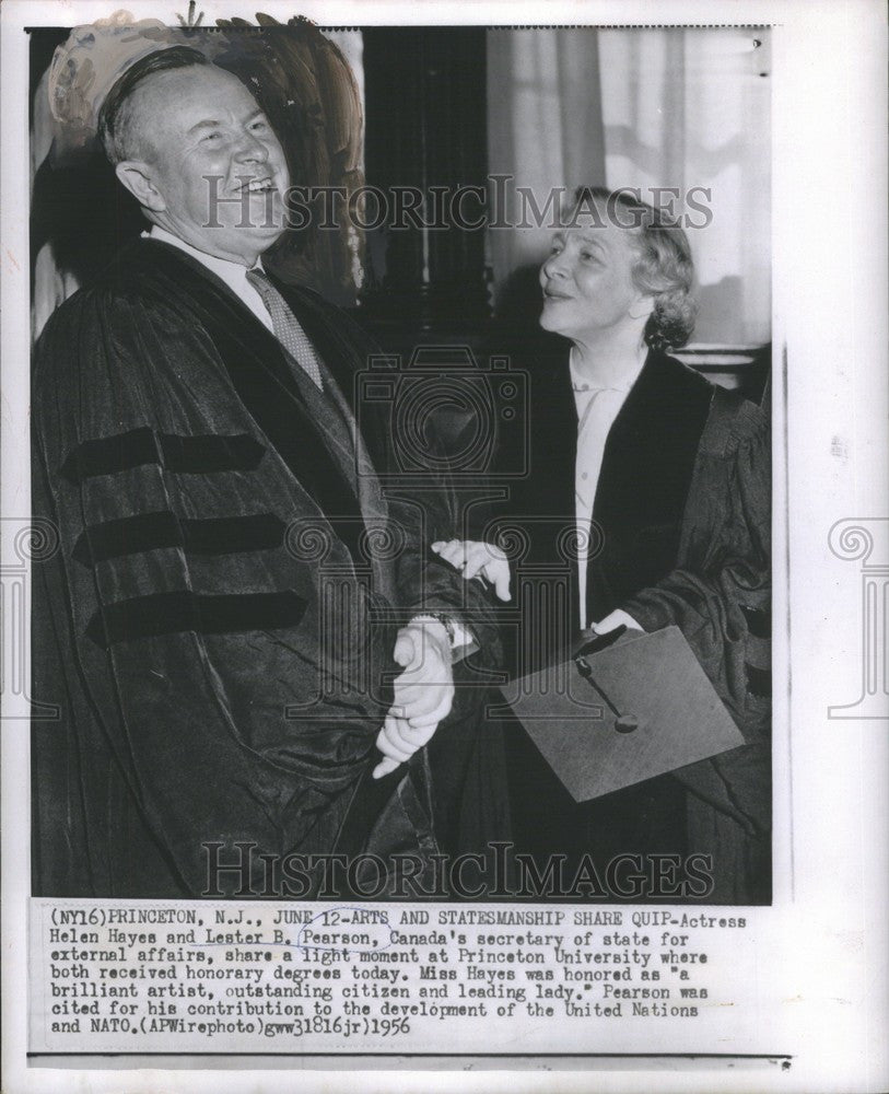
<path id="1" fill-rule="evenodd" d="M 381 484 L 386 439 L 352 401 L 374 347 L 320 298 L 282 291 L 325 395 L 221 281 L 157 241 L 131 245 L 38 344 L 34 513 L 61 543 L 34 568 L 35 695 L 60 711 L 33 733 L 36 894 L 199 896 L 207 842 L 225 845 L 223 863 L 252 845 L 257 893 L 259 854 L 428 861 L 470 776 L 479 807 L 502 812 L 495 766 L 476 763 L 493 738 L 459 712 L 440 731 L 440 784 L 429 749 L 383 780 L 385 798 L 369 782 L 397 627 L 459 616 L 465 593 L 426 561 L 446 515 Z M 493 649 L 478 613 L 473 628 Z M 366 829 L 344 825 L 359 785 L 375 792 Z M 434 815 L 442 788 L 454 800 Z"/>

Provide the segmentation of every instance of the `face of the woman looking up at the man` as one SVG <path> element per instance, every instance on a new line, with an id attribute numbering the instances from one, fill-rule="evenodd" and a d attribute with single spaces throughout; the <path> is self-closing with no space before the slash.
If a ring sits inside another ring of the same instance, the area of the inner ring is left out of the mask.
<path id="1" fill-rule="evenodd" d="M 540 326 L 581 342 L 609 329 L 639 326 L 653 300 L 633 283 L 635 261 L 631 230 L 619 224 L 557 232 L 540 268 Z"/>

